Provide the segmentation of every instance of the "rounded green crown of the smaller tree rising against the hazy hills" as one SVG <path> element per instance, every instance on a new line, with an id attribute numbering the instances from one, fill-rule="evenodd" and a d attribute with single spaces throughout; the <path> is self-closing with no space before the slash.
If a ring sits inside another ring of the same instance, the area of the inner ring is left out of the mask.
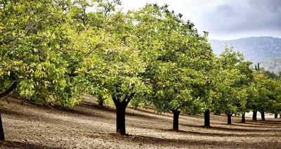
<path id="1" fill-rule="evenodd" d="M 249 69 L 250 62 L 244 62 L 242 54 L 226 47 L 218 58 L 220 70 L 217 70 L 216 87 L 213 101 L 216 111 L 233 114 L 246 112 L 247 89 L 254 77 Z"/>

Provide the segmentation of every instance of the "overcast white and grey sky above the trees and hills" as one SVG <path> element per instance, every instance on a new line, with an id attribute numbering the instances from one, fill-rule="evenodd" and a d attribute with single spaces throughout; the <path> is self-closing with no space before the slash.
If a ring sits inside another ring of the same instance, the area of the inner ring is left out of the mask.
<path id="1" fill-rule="evenodd" d="M 122 0 L 124 11 L 146 3 L 182 13 L 198 31 L 209 32 L 209 39 L 242 37 L 281 37 L 281 0 Z"/>

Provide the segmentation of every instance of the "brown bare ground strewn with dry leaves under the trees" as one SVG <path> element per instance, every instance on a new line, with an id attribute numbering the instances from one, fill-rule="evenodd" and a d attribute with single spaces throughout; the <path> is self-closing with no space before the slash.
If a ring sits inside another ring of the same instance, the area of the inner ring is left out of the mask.
<path id="1" fill-rule="evenodd" d="M 254 122 L 246 117 L 180 115 L 180 131 L 172 131 L 173 116 L 151 108 L 126 110 L 128 136 L 115 134 L 115 108 L 99 108 L 86 98 L 74 108 L 39 107 L 10 98 L 0 108 L 6 141 L 0 148 L 281 148 L 281 119 Z"/>

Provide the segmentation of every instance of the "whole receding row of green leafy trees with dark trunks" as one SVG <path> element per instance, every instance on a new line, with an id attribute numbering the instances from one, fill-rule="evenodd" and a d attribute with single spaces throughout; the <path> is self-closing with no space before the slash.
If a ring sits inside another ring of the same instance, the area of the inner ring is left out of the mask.
<path id="1" fill-rule="evenodd" d="M 251 70 L 242 54 L 226 48 L 214 56 L 208 33 L 167 5 L 124 13 L 120 4 L 0 1 L 0 98 L 13 91 L 32 103 L 73 106 L 91 93 L 115 105 L 120 134 L 128 105 L 173 112 L 173 129 L 181 112 L 204 112 L 205 126 L 210 112 L 226 113 L 229 124 L 250 110 L 280 113 L 280 80 Z"/>

